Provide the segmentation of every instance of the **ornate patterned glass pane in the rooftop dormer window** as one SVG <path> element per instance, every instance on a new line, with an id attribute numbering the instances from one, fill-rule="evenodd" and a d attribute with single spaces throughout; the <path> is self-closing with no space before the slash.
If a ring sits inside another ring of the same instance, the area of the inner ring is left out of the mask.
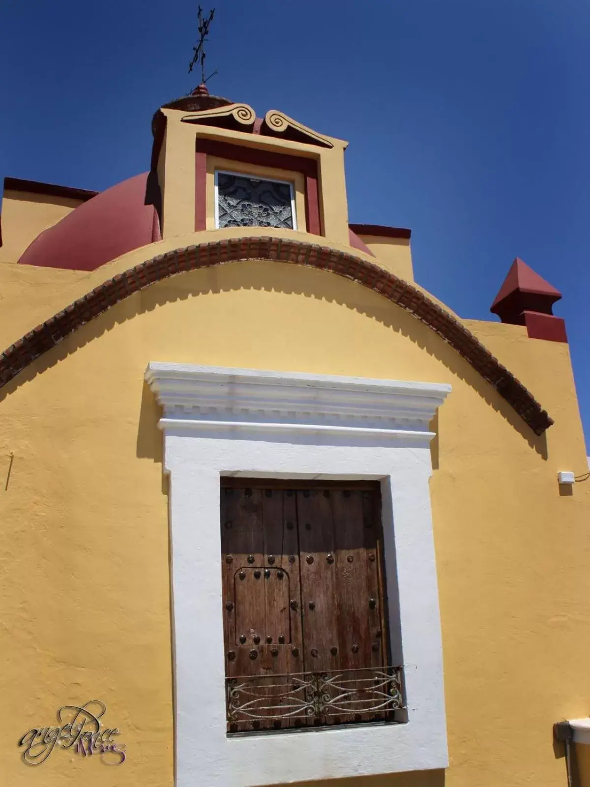
<path id="1" fill-rule="evenodd" d="M 217 173 L 219 227 L 293 229 L 289 183 Z"/>

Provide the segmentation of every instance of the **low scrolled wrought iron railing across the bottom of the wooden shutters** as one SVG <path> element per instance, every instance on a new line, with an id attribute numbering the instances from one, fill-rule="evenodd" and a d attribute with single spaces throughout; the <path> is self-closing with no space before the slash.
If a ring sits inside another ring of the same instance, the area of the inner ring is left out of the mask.
<path id="1" fill-rule="evenodd" d="M 394 720 L 402 667 L 227 678 L 229 732 Z"/>

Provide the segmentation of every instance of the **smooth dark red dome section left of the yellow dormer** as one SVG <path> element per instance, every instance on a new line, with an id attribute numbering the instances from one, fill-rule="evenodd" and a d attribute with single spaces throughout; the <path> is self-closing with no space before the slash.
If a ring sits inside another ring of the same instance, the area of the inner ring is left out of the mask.
<path id="1" fill-rule="evenodd" d="M 153 204 L 146 205 L 148 177 L 148 172 L 136 175 L 78 205 L 38 235 L 19 263 L 94 271 L 121 254 L 159 241 L 157 210 Z"/>

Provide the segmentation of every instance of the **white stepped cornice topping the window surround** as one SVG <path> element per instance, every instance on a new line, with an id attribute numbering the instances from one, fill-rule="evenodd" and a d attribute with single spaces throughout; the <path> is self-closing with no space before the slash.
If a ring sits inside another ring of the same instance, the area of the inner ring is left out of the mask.
<path id="1" fill-rule="evenodd" d="M 164 409 L 160 427 L 204 434 L 230 428 L 431 438 L 429 422 L 451 390 L 436 382 L 375 380 L 151 362 L 146 381 Z"/>

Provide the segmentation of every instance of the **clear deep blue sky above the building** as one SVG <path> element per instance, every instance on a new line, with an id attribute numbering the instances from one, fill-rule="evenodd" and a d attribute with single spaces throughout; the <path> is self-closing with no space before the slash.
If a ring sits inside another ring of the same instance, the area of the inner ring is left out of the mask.
<path id="1" fill-rule="evenodd" d="M 590 4 L 215 5 L 210 90 L 348 139 L 350 220 L 411 227 L 422 286 L 495 319 L 518 256 L 562 291 L 590 446 Z M 0 177 L 101 190 L 146 171 L 153 112 L 198 81 L 196 7 L 4 0 Z"/>

